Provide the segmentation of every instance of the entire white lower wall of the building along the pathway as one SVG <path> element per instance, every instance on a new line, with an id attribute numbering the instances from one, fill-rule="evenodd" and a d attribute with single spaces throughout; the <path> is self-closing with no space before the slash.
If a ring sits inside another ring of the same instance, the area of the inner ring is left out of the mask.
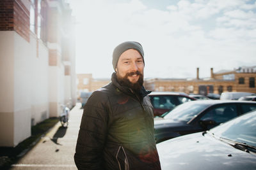
<path id="1" fill-rule="evenodd" d="M 29 1 L 21 1 L 29 9 Z M 35 34 L 28 42 L 15 31 L 0 31 L 0 39 L 0 146 L 16 146 L 31 135 L 31 125 L 58 117 L 67 99 L 76 104 L 75 62 L 65 77 L 61 59 L 49 66 L 48 48 Z"/>

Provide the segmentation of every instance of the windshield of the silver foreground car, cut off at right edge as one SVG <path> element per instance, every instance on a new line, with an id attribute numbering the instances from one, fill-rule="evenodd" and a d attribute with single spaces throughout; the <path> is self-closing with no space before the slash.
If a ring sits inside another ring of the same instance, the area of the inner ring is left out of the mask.
<path id="1" fill-rule="evenodd" d="M 220 138 L 256 147 L 256 111 L 215 127 L 210 132 Z"/>

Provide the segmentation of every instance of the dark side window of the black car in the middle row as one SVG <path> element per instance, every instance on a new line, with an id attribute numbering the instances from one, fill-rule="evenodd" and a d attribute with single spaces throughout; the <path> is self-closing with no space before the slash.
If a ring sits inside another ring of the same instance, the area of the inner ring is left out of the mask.
<path id="1" fill-rule="evenodd" d="M 217 124 L 227 122 L 231 118 L 237 117 L 235 104 L 218 106 L 207 111 L 201 120 L 214 120 Z"/>

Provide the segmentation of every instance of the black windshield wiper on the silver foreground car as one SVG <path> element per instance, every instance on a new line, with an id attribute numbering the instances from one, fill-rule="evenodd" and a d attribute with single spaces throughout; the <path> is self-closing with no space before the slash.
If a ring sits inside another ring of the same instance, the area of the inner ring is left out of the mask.
<path id="1" fill-rule="evenodd" d="M 223 138 L 223 137 L 220 137 L 220 140 L 224 141 L 225 143 L 228 143 L 228 145 L 231 145 L 234 148 L 237 148 L 239 150 L 243 150 L 244 152 L 248 152 L 248 153 L 254 152 L 254 153 L 256 153 L 256 147 L 255 146 L 248 145 L 246 143 L 233 141 L 231 139 L 227 139 L 227 138 Z"/>

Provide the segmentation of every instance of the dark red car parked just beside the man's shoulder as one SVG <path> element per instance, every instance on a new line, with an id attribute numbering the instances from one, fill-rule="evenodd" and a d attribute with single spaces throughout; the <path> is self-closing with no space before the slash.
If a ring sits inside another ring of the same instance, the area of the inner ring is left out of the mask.
<path id="1" fill-rule="evenodd" d="M 154 117 L 161 116 L 179 104 L 196 100 L 182 92 L 151 92 L 148 96 L 154 107 Z"/>

